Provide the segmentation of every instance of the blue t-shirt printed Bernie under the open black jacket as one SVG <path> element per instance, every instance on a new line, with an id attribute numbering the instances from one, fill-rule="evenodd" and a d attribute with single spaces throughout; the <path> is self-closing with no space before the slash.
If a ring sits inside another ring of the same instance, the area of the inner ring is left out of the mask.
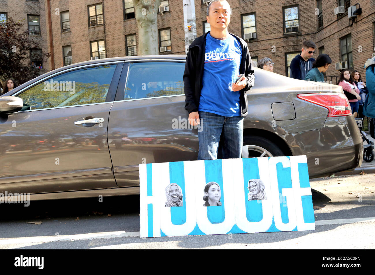
<path id="1" fill-rule="evenodd" d="M 240 116 L 240 91 L 232 91 L 232 83 L 240 74 L 242 50 L 235 37 L 225 40 L 206 36 L 202 91 L 199 111 L 220 116 Z"/>

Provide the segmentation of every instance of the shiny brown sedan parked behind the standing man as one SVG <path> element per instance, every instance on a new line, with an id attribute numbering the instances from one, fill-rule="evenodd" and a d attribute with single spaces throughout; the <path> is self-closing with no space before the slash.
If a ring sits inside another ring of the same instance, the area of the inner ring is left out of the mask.
<path id="1" fill-rule="evenodd" d="M 0 193 L 137 194 L 140 163 L 196 160 L 184 62 L 184 55 L 86 61 L 0 97 Z M 362 164 L 362 138 L 340 86 L 255 68 L 248 101 L 243 157 L 307 155 L 311 178 Z"/>

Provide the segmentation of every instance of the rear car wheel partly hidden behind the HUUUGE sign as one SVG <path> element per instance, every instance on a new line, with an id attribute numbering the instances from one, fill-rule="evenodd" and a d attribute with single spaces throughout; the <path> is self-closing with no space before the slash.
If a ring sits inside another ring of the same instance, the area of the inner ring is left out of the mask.
<path id="1" fill-rule="evenodd" d="M 264 137 L 251 135 L 243 138 L 242 158 L 285 156 L 273 142 Z"/>

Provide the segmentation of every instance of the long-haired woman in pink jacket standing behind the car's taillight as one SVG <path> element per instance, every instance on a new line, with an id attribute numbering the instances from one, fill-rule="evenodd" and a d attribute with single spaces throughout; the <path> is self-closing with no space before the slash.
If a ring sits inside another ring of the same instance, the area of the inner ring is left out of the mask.
<path id="1" fill-rule="evenodd" d="M 359 107 L 358 100 L 361 99 L 361 97 L 359 96 L 360 90 L 357 88 L 357 85 L 354 83 L 354 80 L 348 70 L 344 70 L 341 72 L 341 76 L 337 85 L 340 85 L 344 90 L 344 94 L 349 100 L 352 114 L 354 118 L 356 118 L 358 115 Z"/>

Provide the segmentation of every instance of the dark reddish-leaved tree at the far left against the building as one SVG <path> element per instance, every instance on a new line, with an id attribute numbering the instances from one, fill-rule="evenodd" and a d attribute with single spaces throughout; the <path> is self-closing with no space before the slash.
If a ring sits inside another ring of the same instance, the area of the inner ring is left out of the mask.
<path id="1" fill-rule="evenodd" d="M 14 22 L 9 18 L 0 23 L 0 81 L 13 78 L 20 85 L 40 75 L 42 71 L 32 68 L 30 50 L 40 49 L 40 46 L 28 37 L 28 31 L 21 32 L 23 23 Z M 40 54 L 37 60 L 45 61 L 48 53 Z M 36 64 L 39 65 L 39 64 Z"/>

